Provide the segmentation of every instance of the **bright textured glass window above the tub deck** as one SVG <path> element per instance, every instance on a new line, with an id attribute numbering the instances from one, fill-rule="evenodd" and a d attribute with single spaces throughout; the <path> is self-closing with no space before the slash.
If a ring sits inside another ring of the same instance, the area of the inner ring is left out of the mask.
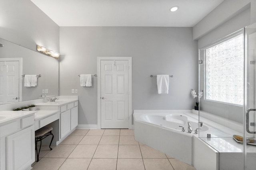
<path id="1" fill-rule="evenodd" d="M 206 100 L 243 105 L 243 49 L 242 33 L 205 49 Z"/>

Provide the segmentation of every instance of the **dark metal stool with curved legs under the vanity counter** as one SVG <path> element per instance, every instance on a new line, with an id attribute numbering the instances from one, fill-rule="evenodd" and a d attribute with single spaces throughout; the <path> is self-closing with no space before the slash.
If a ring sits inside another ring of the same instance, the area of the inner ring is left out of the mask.
<path id="1" fill-rule="evenodd" d="M 52 134 L 52 127 L 42 127 L 42 128 L 35 131 L 36 155 L 37 155 L 36 162 L 39 161 L 39 153 L 40 153 L 41 146 L 42 146 L 42 140 L 44 138 L 48 137 L 49 135 L 52 135 L 52 140 L 53 140 L 54 135 Z M 51 143 L 49 145 L 50 150 L 52 150 L 52 148 L 51 148 L 52 140 L 51 140 Z M 40 148 L 39 148 L 39 151 L 38 151 L 37 150 L 37 142 L 39 142 L 39 141 L 40 141 Z"/>

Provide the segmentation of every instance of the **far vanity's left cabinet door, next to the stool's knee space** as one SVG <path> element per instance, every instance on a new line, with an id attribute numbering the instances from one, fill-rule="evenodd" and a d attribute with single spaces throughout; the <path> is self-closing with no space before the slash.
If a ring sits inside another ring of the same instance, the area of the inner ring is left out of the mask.
<path id="1" fill-rule="evenodd" d="M 70 132 L 70 110 L 60 113 L 60 138 Z"/>

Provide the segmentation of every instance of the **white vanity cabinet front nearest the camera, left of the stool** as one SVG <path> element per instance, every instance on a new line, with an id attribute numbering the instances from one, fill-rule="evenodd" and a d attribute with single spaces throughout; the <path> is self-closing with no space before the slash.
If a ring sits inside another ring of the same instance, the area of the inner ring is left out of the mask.
<path id="1" fill-rule="evenodd" d="M 34 113 L 0 122 L 0 170 L 29 170 L 34 161 Z"/>

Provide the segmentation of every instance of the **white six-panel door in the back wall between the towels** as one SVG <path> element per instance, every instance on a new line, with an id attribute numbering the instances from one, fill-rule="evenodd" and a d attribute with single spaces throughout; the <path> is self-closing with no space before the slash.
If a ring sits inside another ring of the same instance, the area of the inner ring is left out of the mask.
<path id="1" fill-rule="evenodd" d="M 100 67 L 101 128 L 128 128 L 128 61 L 102 60 Z"/>

